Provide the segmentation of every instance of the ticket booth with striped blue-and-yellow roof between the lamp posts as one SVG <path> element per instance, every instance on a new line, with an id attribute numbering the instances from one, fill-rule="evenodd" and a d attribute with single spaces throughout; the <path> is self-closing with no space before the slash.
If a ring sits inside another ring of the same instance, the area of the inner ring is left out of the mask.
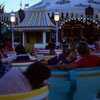
<path id="1" fill-rule="evenodd" d="M 37 11 L 25 11 L 24 20 L 15 26 L 14 30 L 23 31 L 22 44 L 26 49 L 33 49 L 33 45 L 34 48 L 44 48 L 51 39 L 51 31 L 56 31 L 56 25 L 50 20 L 48 13 L 39 8 Z"/>

